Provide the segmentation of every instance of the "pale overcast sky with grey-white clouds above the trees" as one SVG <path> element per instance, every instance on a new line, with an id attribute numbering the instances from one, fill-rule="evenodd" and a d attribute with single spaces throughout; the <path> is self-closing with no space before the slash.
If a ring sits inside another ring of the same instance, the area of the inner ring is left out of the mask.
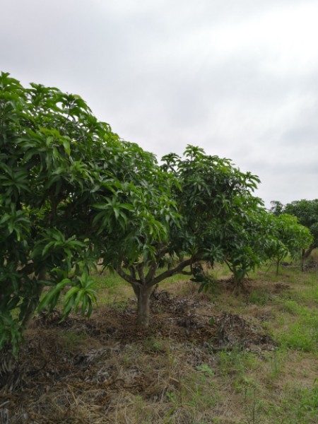
<path id="1" fill-rule="evenodd" d="M 2 0 L 0 70 L 88 102 L 158 159 L 187 144 L 318 198 L 317 0 Z"/>

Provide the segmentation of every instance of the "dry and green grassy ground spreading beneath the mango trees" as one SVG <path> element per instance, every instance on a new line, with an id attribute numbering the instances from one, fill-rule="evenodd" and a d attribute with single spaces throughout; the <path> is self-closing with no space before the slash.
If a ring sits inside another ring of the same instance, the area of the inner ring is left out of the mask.
<path id="1" fill-rule="evenodd" d="M 173 314 L 167 317 L 165 305 L 153 312 L 153 320 L 170 319 L 171 331 L 159 325 L 146 336 L 137 330 L 134 335 L 133 290 L 115 274 L 96 273 L 98 309 L 91 319 L 73 317 L 67 327 L 30 330 L 35 369 L 45 358 L 52 365 L 43 370 L 45 388 L 34 401 L 21 400 L 19 408 L 33 408 L 29 414 L 39 424 L 316 424 L 318 274 L 293 265 L 278 276 L 275 271 L 267 266 L 251 274 L 240 295 L 232 293 L 228 271 L 220 266 L 211 293 L 198 294 L 187 276 L 160 286 L 177 297 L 167 307 L 184 307 L 184 317 L 207 317 L 213 328 L 226 313 L 233 320 L 228 336 L 240 332 L 249 341 L 247 330 L 255 328 L 275 341 L 223 350 L 209 338 L 195 338 L 200 327 L 181 338 L 183 327 L 175 324 L 177 315 L 175 321 Z M 191 300 L 192 312 L 184 300 Z M 246 329 L 240 323 L 247 323 Z M 30 350 L 25 358 L 30 360 Z"/>

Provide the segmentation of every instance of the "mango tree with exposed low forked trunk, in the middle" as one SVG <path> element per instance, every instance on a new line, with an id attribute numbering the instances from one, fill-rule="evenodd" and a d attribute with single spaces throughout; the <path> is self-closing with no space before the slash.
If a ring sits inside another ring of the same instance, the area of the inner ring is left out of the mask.
<path id="1" fill-rule="evenodd" d="M 252 196 L 257 182 L 230 160 L 206 155 L 195 146 L 187 146 L 183 158 L 165 156 L 151 179 L 139 182 L 147 188 L 146 201 L 165 237 L 154 226 L 146 228 L 149 220 L 142 226 L 131 220 L 129 237 L 115 237 L 104 252 L 105 265 L 112 264 L 136 293 L 139 324 L 149 324 L 149 298 L 155 285 L 187 267 L 194 273 L 198 261 L 213 264 L 225 259 L 225 225 L 242 213 L 237 199 Z M 99 219 L 103 216 L 107 217 L 107 205 Z M 128 259 L 131 252 L 134 260 Z"/>

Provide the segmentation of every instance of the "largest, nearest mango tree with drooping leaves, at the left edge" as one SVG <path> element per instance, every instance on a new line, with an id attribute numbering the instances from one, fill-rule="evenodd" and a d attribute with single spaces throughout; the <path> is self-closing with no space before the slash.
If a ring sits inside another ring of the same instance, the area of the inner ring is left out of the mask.
<path id="1" fill-rule="evenodd" d="M 121 141 L 77 95 L 23 88 L 8 73 L 0 89 L 0 374 L 9 385 L 10 353 L 35 309 L 52 309 L 67 289 L 64 314 L 90 314 L 89 271 L 104 246 L 136 237 L 128 222 L 153 240 L 165 228 L 147 204 L 152 155 Z M 136 187 L 141 174 L 144 187 Z"/>

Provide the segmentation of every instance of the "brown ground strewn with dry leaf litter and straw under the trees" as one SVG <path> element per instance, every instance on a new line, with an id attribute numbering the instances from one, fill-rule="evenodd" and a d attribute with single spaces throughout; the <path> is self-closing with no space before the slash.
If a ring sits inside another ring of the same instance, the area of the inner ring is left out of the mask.
<path id="1" fill-rule="evenodd" d="M 216 353 L 233 348 L 275 350 L 261 326 L 266 314 L 270 311 L 259 309 L 253 317 L 220 312 L 204 295 L 160 289 L 151 298 L 148 329 L 136 326 L 132 299 L 124 307 L 99 307 L 90 319 L 72 315 L 61 322 L 58 310 L 40 314 L 20 351 L 20 385 L 0 394 L 0 407 L 9 424 L 138 422 L 129 418 L 129 405 L 136 408 L 140 401 L 159 411 L 181 384 L 184 367 L 212 368 Z M 190 423 L 187 418 L 173 422 Z"/>

